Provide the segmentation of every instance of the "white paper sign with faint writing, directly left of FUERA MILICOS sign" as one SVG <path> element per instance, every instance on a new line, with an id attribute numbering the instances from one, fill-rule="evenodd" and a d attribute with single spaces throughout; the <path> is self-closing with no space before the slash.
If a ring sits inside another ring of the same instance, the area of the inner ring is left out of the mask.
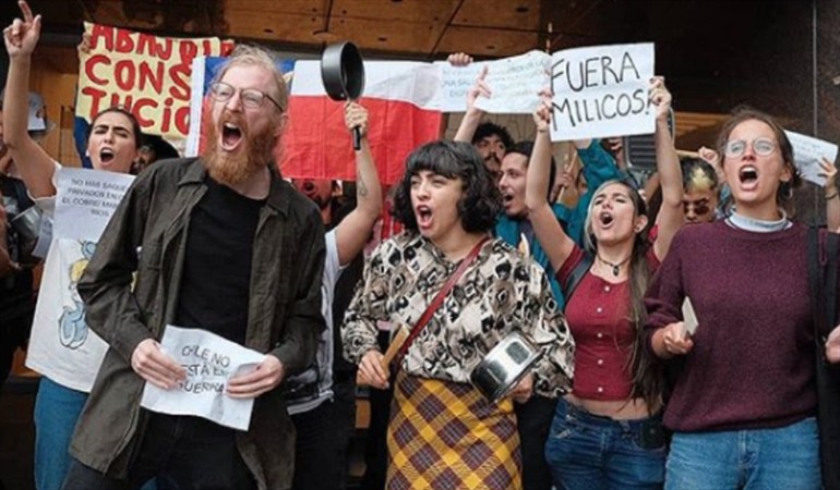
<path id="1" fill-rule="evenodd" d="M 476 107 L 490 113 L 532 113 L 540 103 L 540 90 L 549 86 L 550 69 L 551 56 L 542 51 L 491 62 L 484 78 L 490 98 L 479 97 Z"/>

